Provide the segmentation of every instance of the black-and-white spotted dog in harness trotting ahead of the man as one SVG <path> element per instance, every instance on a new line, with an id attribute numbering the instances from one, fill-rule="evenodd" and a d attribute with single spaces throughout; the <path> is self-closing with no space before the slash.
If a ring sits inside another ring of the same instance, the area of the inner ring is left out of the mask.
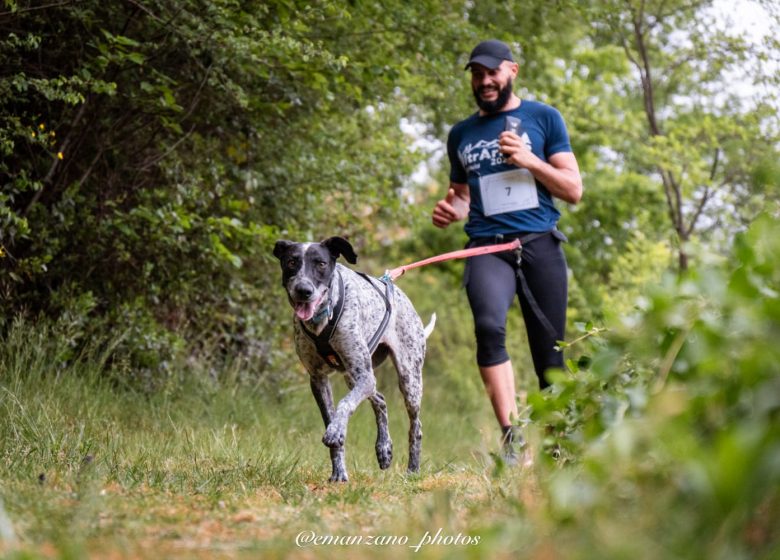
<path id="1" fill-rule="evenodd" d="M 330 448 L 331 482 L 347 481 L 344 442 L 347 422 L 368 399 L 376 415 L 376 458 L 386 469 L 393 458 L 387 429 L 387 405 L 376 390 L 374 368 L 388 356 L 398 372 L 409 415 L 409 472 L 420 468 L 422 367 L 425 341 L 435 315 L 423 328 L 409 298 L 389 279 L 371 278 L 337 263 L 357 262 L 352 245 L 341 237 L 321 243 L 279 240 L 274 256 L 282 267 L 282 285 L 294 309 L 295 348 L 310 376 L 314 399 L 325 422 L 322 442 Z M 349 392 L 334 407 L 328 376 L 341 371 Z"/>

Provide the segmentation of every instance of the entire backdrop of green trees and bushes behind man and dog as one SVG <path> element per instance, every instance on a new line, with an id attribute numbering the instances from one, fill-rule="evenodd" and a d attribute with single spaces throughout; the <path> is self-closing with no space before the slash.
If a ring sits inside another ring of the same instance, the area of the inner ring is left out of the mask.
<path id="1" fill-rule="evenodd" d="M 473 111 L 463 63 L 488 36 L 513 45 L 520 95 L 561 110 L 583 170 L 585 198 L 561 222 L 573 321 L 630 310 L 672 251 L 726 246 L 778 194 L 776 98 L 718 89 L 744 69 L 771 92 L 776 73 L 744 37 L 703 27 L 708 2 L 6 6 L 0 330 L 18 313 L 81 312 L 76 347 L 137 333 L 121 349 L 143 341 L 139 364 L 162 377 L 201 346 L 285 375 L 278 237 L 340 233 L 387 262 L 462 245 L 458 228 L 430 228 L 447 180 L 433 171 L 435 194 L 411 184 L 428 154 L 399 125 L 441 140 Z M 403 258 L 385 250 L 401 240 Z"/>

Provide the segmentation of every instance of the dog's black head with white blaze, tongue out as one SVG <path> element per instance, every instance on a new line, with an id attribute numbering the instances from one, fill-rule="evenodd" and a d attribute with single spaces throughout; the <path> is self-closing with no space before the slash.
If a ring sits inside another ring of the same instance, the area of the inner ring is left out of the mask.
<path id="1" fill-rule="evenodd" d="M 351 264 L 357 262 L 352 245 L 343 237 L 329 237 L 321 243 L 280 239 L 274 245 L 274 256 L 282 266 L 282 286 L 302 321 L 309 321 L 326 304 L 336 259 L 341 255 Z"/>

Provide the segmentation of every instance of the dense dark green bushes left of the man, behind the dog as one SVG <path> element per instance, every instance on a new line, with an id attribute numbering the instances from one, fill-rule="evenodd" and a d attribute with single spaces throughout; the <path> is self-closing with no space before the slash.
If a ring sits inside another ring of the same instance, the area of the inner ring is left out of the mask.
<path id="1" fill-rule="evenodd" d="M 399 121 L 442 94 L 420 76 L 446 58 L 420 17 L 442 34 L 455 18 L 437 3 L 397 8 L 9 6 L 0 322 L 78 308 L 81 343 L 135 332 L 121 346 L 144 368 L 164 374 L 183 338 L 205 338 L 267 372 L 284 311 L 273 241 L 403 216 L 421 156 Z"/>

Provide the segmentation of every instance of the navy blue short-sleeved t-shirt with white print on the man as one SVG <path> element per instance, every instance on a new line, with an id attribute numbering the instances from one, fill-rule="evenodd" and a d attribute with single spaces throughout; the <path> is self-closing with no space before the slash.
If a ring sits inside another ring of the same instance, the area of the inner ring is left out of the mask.
<path id="1" fill-rule="evenodd" d="M 572 151 L 561 114 L 557 109 L 537 101 L 523 100 L 517 109 L 491 115 L 475 113 L 453 126 L 447 138 L 450 180 L 469 186 L 471 206 L 465 230 L 471 239 L 499 233 L 548 231 L 555 227 L 560 217 L 549 191 L 535 179 L 538 206 L 486 215 L 480 178 L 518 169 L 505 163 L 504 154 L 498 150 L 498 135 L 504 130 L 507 115 L 520 119 L 520 137 L 543 161 L 553 154 Z"/>

